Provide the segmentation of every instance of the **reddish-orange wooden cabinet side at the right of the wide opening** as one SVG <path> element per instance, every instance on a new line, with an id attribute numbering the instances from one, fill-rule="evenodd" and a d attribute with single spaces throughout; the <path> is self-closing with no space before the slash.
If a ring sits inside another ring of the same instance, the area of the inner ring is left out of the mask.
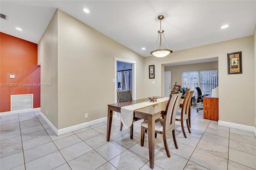
<path id="1" fill-rule="evenodd" d="M 206 96 L 204 97 L 204 119 L 212 121 L 219 120 L 219 98 Z"/>

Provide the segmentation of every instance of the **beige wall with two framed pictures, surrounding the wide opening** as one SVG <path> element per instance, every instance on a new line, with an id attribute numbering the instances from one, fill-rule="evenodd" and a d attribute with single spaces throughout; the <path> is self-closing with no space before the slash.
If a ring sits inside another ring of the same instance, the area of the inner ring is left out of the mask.
<path id="1" fill-rule="evenodd" d="M 254 126 L 253 80 L 253 36 L 238 38 L 181 51 L 174 51 L 167 57 L 146 57 L 144 72 L 148 65 L 155 65 L 156 79 L 144 77 L 145 96 L 164 95 L 164 64 L 211 59 L 218 57 L 219 71 L 219 120 Z M 227 53 L 242 51 L 242 74 L 228 75 Z M 155 81 L 155 84 L 152 83 Z M 246 91 L 242 89 L 246 88 Z"/>

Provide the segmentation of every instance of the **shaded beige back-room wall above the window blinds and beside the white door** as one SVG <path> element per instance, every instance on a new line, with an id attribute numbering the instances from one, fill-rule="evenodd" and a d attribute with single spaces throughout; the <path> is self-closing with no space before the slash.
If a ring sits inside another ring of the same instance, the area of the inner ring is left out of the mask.
<path id="1" fill-rule="evenodd" d="M 175 82 L 176 85 L 182 85 L 181 73 L 184 71 L 205 71 L 205 70 L 218 70 L 218 61 L 186 64 L 186 65 L 175 65 L 164 67 L 164 71 L 172 71 L 172 88 Z M 172 89 L 171 88 L 171 89 Z"/>

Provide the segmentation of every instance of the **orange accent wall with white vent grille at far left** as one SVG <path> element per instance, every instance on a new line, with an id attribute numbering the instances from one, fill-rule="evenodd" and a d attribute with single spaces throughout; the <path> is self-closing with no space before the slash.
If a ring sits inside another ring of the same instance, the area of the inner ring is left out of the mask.
<path id="1" fill-rule="evenodd" d="M 11 95 L 34 94 L 33 108 L 40 107 L 38 83 L 37 44 L 0 32 L 0 112 L 10 111 Z"/>

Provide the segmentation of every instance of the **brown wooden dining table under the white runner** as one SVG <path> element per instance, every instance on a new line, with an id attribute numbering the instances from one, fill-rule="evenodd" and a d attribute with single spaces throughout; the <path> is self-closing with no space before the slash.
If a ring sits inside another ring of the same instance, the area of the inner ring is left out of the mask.
<path id="1" fill-rule="evenodd" d="M 114 103 L 114 104 L 108 105 L 107 141 L 110 140 L 113 111 L 120 113 L 121 107 L 134 105 L 134 104 L 142 103 L 146 101 L 149 101 L 149 99 L 148 98 L 138 99 L 138 100 L 126 101 L 126 102 Z M 179 108 L 181 107 L 182 101 L 183 99 L 179 101 L 179 106 L 178 106 Z M 156 103 L 154 105 L 150 105 L 141 109 L 134 110 L 134 117 L 148 120 L 148 150 L 149 150 L 149 162 L 150 162 L 151 169 L 154 168 L 155 120 L 160 117 L 163 117 L 167 103 L 168 101 L 163 101 L 160 103 Z"/>

